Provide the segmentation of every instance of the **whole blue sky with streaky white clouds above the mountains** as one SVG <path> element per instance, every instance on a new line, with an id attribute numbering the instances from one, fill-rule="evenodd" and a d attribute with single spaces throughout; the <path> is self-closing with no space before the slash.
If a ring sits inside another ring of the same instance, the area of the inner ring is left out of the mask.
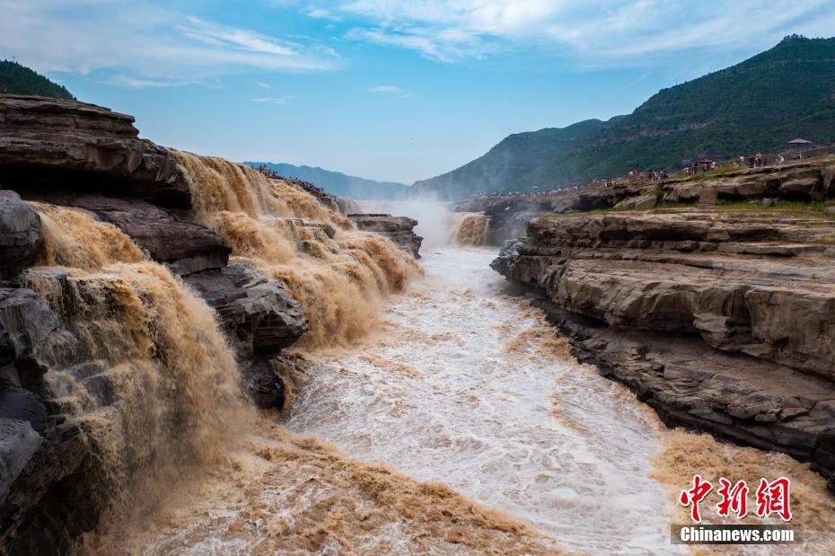
<path id="1" fill-rule="evenodd" d="M 2 14 L 0 58 L 133 114 L 157 143 L 407 183 L 835 30 L 835 0 L 3 0 Z"/>

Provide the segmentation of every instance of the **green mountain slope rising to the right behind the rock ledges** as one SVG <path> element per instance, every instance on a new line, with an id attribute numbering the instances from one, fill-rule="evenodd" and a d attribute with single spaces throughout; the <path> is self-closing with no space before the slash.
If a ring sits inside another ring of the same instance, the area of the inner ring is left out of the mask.
<path id="1" fill-rule="evenodd" d="M 835 142 L 835 39 L 792 35 L 741 64 L 653 95 L 628 116 L 514 134 L 461 168 L 417 181 L 409 195 L 442 199 L 566 187 L 629 170 L 679 170 Z"/>

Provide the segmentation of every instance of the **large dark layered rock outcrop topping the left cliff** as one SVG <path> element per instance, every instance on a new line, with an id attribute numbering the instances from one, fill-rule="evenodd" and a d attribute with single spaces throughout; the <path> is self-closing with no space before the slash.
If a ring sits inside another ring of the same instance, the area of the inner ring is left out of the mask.
<path id="1" fill-rule="evenodd" d="M 189 188 L 173 154 L 140 139 L 134 118 L 101 106 L 0 95 L 4 187 L 102 192 L 188 207 Z"/>

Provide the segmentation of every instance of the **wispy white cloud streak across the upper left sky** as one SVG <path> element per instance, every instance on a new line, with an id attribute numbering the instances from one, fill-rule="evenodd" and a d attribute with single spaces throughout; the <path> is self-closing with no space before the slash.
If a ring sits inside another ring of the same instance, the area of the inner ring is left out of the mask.
<path id="1" fill-rule="evenodd" d="M 281 72 L 338 66 L 330 49 L 129 0 L 6 0 L 0 52 L 39 71 L 101 72 L 123 86 L 197 82 L 236 68 Z"/>

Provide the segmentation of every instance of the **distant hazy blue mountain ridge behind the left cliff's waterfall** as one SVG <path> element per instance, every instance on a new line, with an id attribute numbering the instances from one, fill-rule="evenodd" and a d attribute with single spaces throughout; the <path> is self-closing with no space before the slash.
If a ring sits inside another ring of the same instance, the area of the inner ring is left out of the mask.
<path id="1" fill-rule="evenodd" d="M 294 166 L 285 163 L 244 163 L 253 167 L 267 166 L 285 178 L 310 181 L 316 187 L 338 197 L 351 199 L 400 199 L 409 189 L 405 183 L 396 181 L 374 181 L 349 176 L 342 172 L 331 172 L 312 166 Z"/>

